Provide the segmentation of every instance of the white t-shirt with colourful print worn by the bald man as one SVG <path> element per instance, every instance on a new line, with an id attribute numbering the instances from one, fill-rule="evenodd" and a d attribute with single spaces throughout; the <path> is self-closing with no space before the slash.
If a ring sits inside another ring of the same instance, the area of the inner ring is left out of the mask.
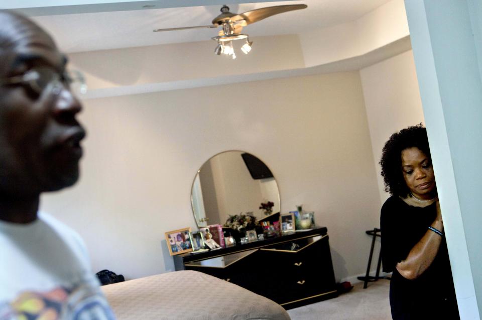
<path id="1" fill-rule="evenodd" d="M 0 320 L 112 320 L 79 235 L 39 213 L 21 225 L 0 221 Z"/>

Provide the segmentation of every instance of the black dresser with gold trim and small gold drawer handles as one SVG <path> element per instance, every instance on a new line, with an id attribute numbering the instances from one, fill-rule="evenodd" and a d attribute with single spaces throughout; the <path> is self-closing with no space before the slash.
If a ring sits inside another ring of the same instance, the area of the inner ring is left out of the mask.
<path id="1" fill-rule="evenodd" d="M 326 228 L 209 252 L 174 256 L 176 270 L 196 270 L 290 309 L 337 296 Z M 215 288 L 212 288 L 215 290 Z"/>

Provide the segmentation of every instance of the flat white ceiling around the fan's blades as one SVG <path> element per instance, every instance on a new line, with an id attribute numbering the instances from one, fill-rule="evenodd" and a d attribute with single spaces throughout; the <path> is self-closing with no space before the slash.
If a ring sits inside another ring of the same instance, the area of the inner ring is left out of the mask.
<path id="1" fill-rule="evenodd" d="M 253 9 L 306 4 L 307 9 L 273 16 L 249 25 L 243 32 L 252 37 L 300 34 L 350 22 L 390 0 L 304 0 L 228 5 L 233 13 Z M 216 29 L 152 32 L 158 28 L 209 25 L 220 6 L 97 12 L 32 17 L 51 32 L 64 52 L 82 52 L 166 43 L 205 41 Z"/>

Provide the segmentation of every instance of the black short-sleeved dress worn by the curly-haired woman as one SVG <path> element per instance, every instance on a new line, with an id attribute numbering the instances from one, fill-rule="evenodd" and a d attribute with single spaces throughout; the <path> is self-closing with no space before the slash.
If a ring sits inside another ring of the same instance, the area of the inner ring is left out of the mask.
<path id="1" fill-rule="evenodd" d="M 393 271 L 390 306 L 395 320 L 459 319 L 445 236 L 434 261 L 418 278 L 408 280 L 395 268 L 422 239 L 436 216 L 435 203 L 416 207 L 398 196 L 388 198 L 382 206 L 382 263 L 383 271 Z"/>

